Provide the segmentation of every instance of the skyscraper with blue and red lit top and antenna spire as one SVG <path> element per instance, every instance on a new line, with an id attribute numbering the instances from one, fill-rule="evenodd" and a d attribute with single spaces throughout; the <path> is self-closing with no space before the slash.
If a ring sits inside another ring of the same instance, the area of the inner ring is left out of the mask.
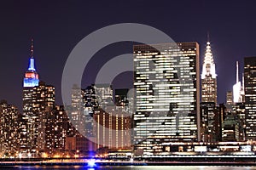
<path id="1" fill-rule="evenodd" d="M 49 139 L 54 139 L 55 122 L 52 110 L 55 107 L 55 87 L 39 82 L 33 57 L 33 41 L 28 70 L 23 81 L 23 114 L 20 119 L 20 149 L 37 156 L 38 151 L 51 147 Z M 53 148 L 53 147 L 51 147 Z"/>

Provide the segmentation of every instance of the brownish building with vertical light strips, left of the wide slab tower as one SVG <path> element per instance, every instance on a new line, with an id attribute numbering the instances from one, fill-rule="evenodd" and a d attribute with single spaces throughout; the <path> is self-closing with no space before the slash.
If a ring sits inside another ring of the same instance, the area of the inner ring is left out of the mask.
<path id="1" fill-rule="evenodd" d="M 131 149 L 131 116 L 118 106 L 95 110 L 93 118 L 96 148 Z"/>

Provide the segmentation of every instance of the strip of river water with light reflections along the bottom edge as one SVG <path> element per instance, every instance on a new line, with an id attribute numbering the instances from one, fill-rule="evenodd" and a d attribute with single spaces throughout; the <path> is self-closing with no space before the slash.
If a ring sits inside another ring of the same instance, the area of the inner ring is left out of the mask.
<path id="1" fill-rule="evenodd" d="M 2 169 L 3 167 L 1 167 Z M 102 166 L 102 167 L 86 167 L 86 166 L 20 166 L 20 167 L 4 167 L 4 169 L 83 169 L 83 170 L 256 170 L 256 167 L 207 167 L 207 166 Z"/>

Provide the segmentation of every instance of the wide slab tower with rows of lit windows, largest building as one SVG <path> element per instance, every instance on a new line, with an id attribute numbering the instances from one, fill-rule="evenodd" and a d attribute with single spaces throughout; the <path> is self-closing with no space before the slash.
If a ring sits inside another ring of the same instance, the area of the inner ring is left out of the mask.
<path id="1" fill-rule="evenodd" d="M 160 155 L 172 142 L 200 139 L 200 68 L 197 42 L 136 45 L 135 153 Z"/>

